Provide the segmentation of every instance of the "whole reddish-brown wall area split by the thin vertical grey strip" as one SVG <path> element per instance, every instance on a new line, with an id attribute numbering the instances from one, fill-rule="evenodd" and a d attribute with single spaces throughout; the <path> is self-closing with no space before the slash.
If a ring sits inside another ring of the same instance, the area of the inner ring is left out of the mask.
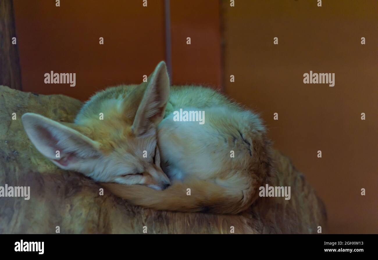
<path id="1" fill-rule="evenodd" d="M 142 82 L 166 58 L 164 0 L 147 3 L 14 1 L 23 91 L 85 100 L 108 86 Z M 171 1 L 172 83 L 220 87 L 218 1 L 190 5 Z M 76 87 L 45 84 L 51 70 L 76 73 Z"/>

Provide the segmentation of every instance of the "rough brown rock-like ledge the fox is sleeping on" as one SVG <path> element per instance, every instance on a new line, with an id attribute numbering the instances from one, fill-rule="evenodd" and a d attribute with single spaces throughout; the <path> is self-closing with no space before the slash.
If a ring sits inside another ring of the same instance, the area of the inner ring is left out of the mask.
<path id="1" fill-rule="evenodd" d="M 0 197 L 0 234 L 60 233 L 324 233 L 323 203 L 290 159 L 274 151 L 270 186 L 291 186 L 291 199 L 262 197 L 239 215 L 164 212 L 133 206 L 76 172 L 58 169 L 29 141 L 26 112 L 72 122 L 81 102 L 63 95 L 38 95 L 0 86 L 0 186 L 30 186 L 30 199 Z M 12 120 L 16 113 L 16 120 Z"/>

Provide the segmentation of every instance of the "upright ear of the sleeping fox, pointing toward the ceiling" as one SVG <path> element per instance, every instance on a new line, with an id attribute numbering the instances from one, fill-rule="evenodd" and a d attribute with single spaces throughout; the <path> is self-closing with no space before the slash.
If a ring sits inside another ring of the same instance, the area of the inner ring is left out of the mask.
<path id="1" fill-rule="evenodd" d="M 161 61 L 150 75 L 143 99 L 136 111 L 132 125 L 136 136 L 144 135 L 151 127 L 156 126 L 164 117 L 169 98 L 169 77 L 164 61 Z"/>

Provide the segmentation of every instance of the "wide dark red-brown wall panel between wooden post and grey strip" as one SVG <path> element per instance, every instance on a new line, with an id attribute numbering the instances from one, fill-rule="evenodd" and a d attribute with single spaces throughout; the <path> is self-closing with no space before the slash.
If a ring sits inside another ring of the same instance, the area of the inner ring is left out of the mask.
<path id="1" fill-rule="evenodd" d="M 165 43 L 163 0 L 147 8 L 140 2 L 14 1 L 23 90 L 87 99 L 107 86 L 141 82 L 164 60 Z M 76 87 L 44 84 L 51 70 L 76 73 Z"/>

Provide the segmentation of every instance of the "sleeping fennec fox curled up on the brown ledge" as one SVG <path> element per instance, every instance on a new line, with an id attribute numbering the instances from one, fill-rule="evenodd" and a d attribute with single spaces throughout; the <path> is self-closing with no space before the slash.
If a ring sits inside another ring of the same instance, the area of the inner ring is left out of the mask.
<path id="1" fill-rule="evenodd" d="M 180 108 L 204 113 L 203 121 L 174 120 Z M 96 93 L 74 123 L 33 113 L 22 121 L 54 164 L 153 209 L 237 214 L 270 175 L 270 143 L 259 117 L 209 88 L 169 87 L 164 62 L 147 82 Z"/>

